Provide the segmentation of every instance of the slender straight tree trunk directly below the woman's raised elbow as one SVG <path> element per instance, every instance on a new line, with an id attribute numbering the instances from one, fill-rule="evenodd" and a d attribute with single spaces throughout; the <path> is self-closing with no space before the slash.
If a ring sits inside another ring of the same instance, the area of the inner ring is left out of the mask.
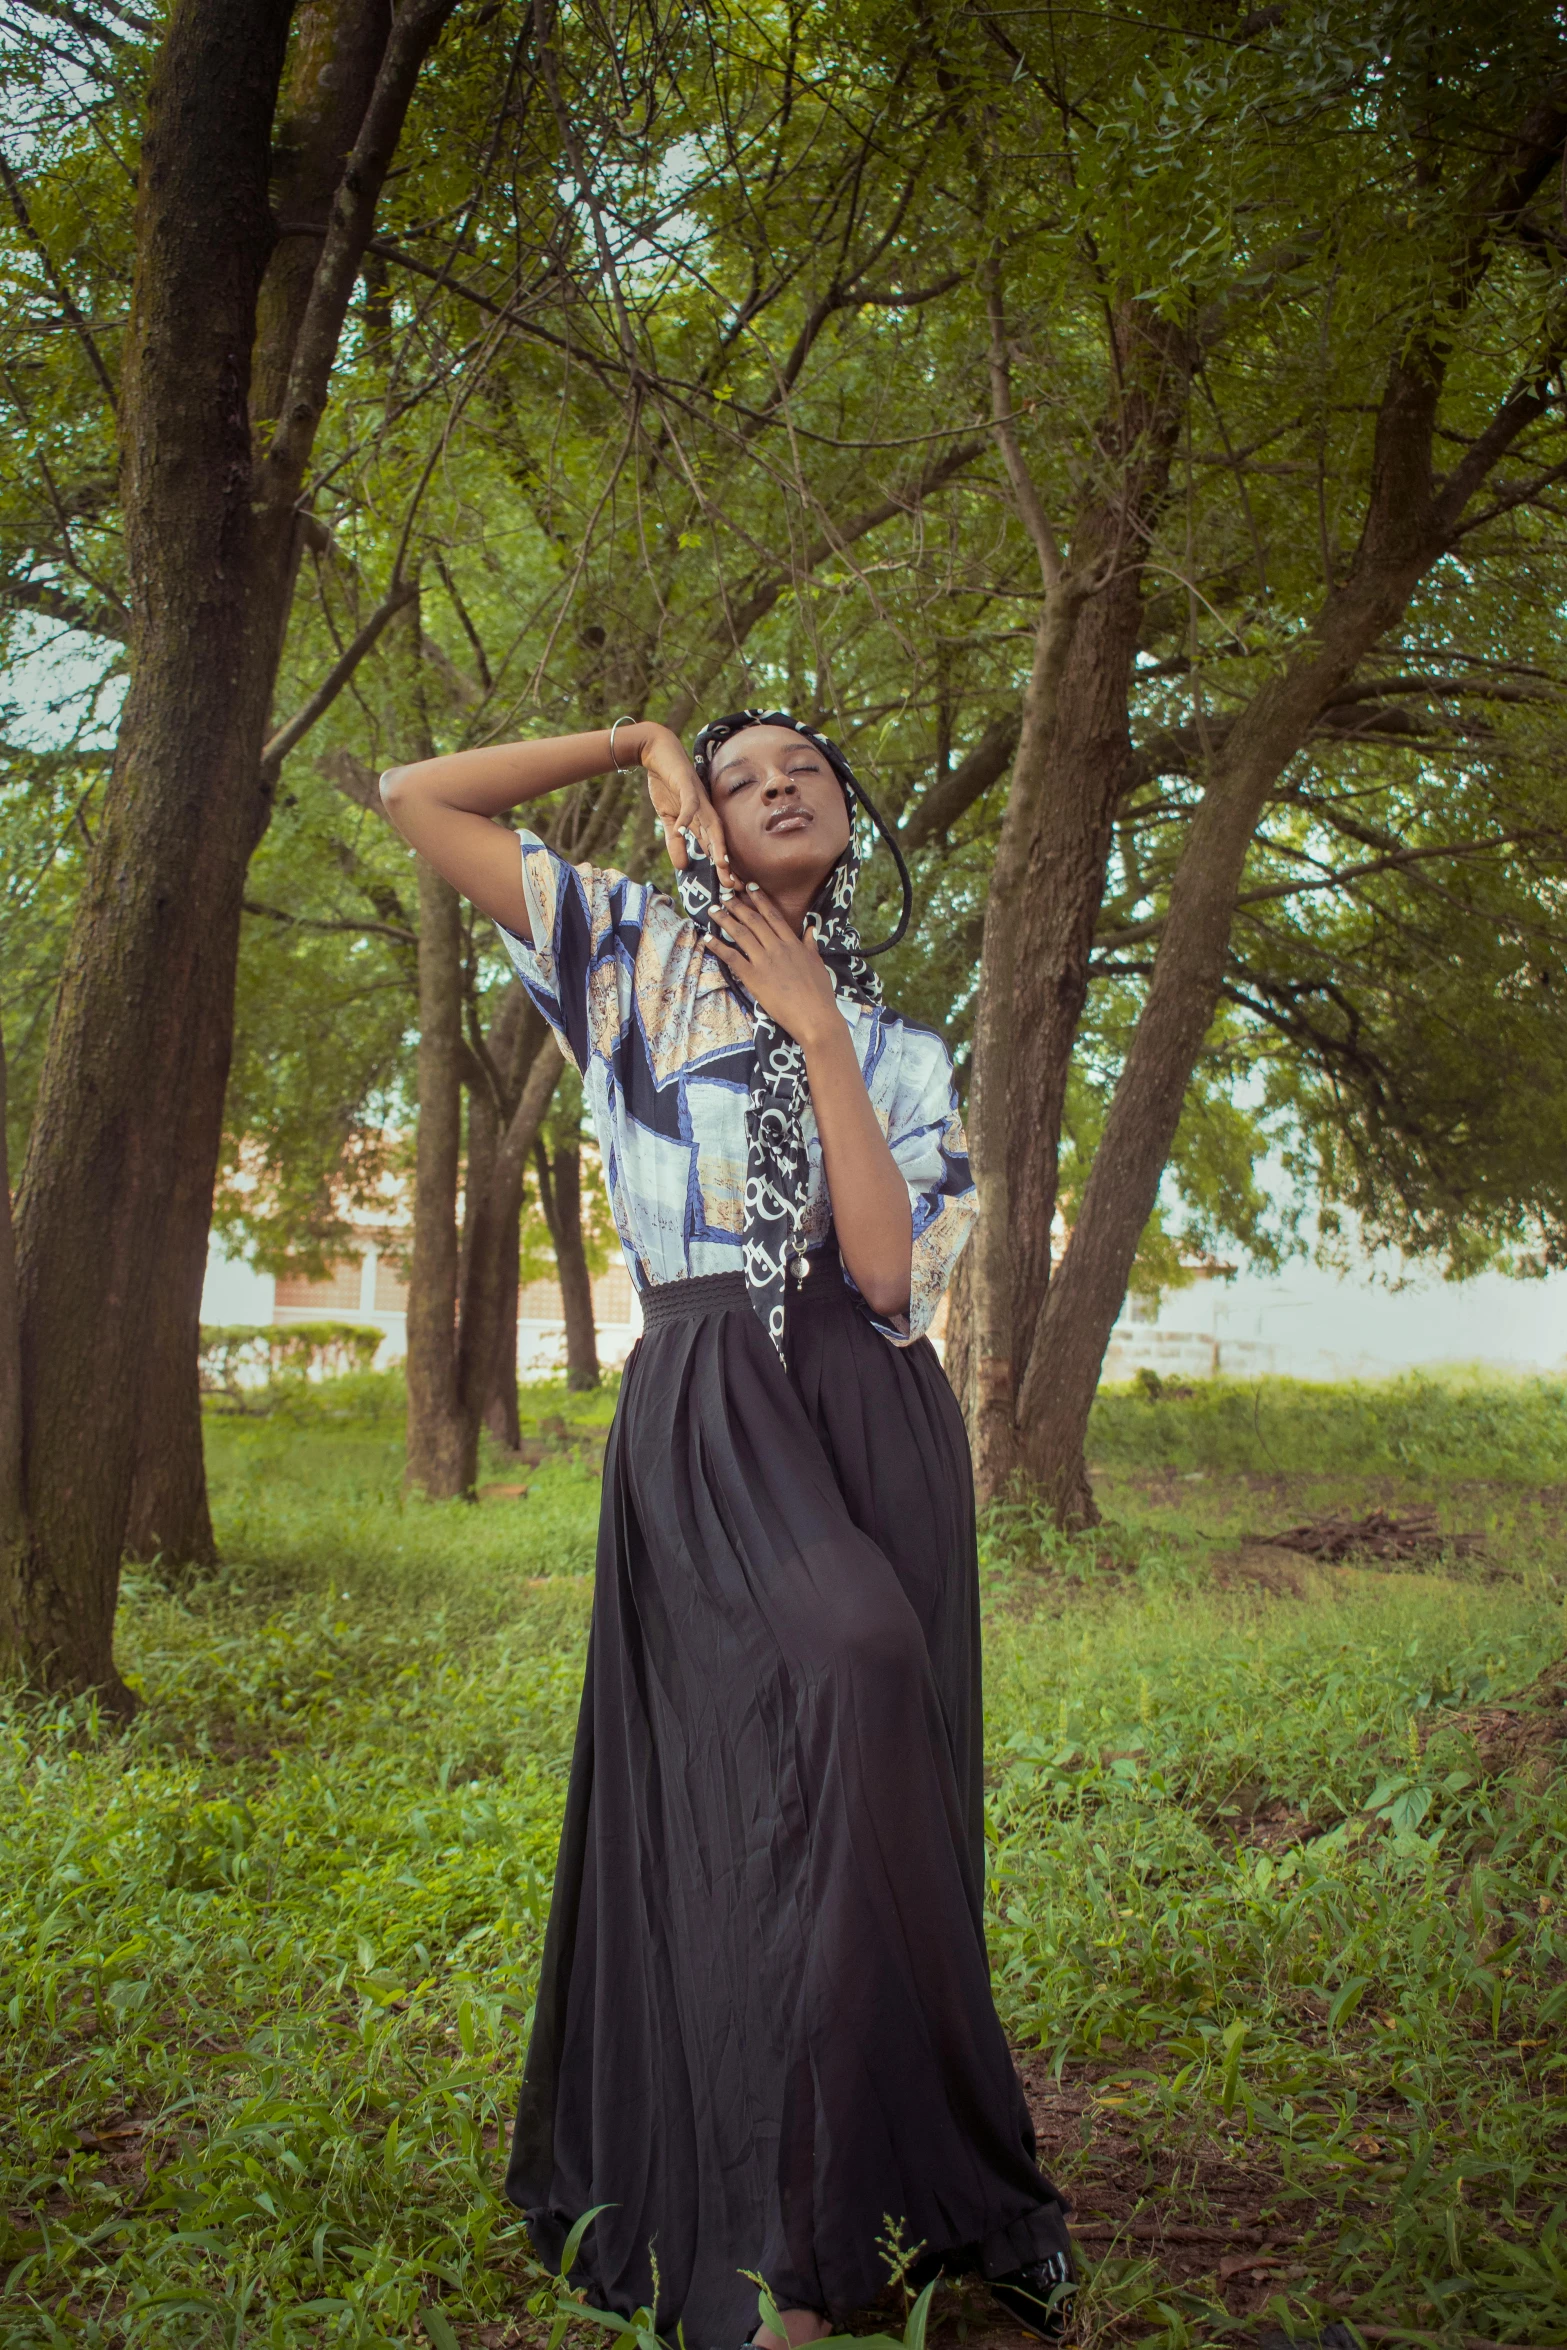
<path id="1" fill-rule="evenodd" d="M 449 1502 L 472 1492 L 477 1419 L 458 1394 L 458 1170 L 463 1159 L 463 907 L 418 858 L 418 1142 L 409 1264 L 404 1478 Z"/>

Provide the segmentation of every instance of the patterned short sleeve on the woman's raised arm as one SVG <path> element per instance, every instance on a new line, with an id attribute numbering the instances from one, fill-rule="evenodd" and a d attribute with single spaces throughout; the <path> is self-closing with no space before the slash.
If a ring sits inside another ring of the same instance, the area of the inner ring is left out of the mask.
<path id="1" fill-rule="evenodd" d="M 533 832 L 517 839 L 533 938 L 496 928 L 517 978 L 585 1074 L 594 1053 L 613 1053 L 625 1027 L 651 891 L 599 865 L 569 865 Z"/>

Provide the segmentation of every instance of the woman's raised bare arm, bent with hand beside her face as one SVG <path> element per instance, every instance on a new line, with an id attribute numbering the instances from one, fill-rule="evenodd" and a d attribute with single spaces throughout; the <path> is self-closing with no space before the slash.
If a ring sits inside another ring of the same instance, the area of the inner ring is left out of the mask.
<path id="1" fill-rule="evenodd" d="M 613 740 L 611 740 L 613 733 Z M 496 743 L 491 750 L 458 750 L 444 759 L 390 766 L 381 799 L 404 841 L 460 888 L 482 914 L 529 935 L 517 839 L 496 822 L 510 808 L 611 768 L 644 766 L 670 853 L 686 862 L 679 832 L 698 834 L 707 853 L 728 872 L 724 830 L 698 783 L 684 743 L 653 719 L 618 719 L 580 736 L 540 736 L 536 743 Z"/>

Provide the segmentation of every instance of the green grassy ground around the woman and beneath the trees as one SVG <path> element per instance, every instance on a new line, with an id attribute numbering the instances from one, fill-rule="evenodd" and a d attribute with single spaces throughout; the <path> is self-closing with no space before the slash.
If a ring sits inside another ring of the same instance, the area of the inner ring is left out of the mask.
<path id="1" fill-rule="evenodd" d="M 479 1506 L 402 1499 L 388 1379 L 214 1422 L 226 1570 L 127 1579 L 134 1730 L 0 1720 L 5 2350 L 543 2341 L 496 2148 L 611 1401 L 531 1391 Z M 1081 2338 L 1567 2343 L 1567 1389 L 1121 1394 L 1092 1455 L 1099 1535 L 984 1530 Z M 1262 1539 L 1370 1513 L 1414 1556 Z"/>

